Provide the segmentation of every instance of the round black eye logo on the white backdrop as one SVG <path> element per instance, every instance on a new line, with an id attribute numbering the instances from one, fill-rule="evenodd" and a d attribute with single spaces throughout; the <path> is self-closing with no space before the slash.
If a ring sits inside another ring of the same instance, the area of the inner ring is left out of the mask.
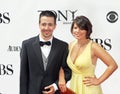
<path id="1" fill-rule="evenodd" d="M 118 14 L 115 11 L 110 11 L 106 15 L 106 19 L 110 23 L 115 23 L 118 20 Z"/>

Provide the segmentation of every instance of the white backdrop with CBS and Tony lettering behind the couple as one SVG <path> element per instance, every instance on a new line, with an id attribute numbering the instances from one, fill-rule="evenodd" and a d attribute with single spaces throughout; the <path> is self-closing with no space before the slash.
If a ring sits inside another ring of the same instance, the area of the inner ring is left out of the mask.
<path id="1" fill-rule="evenodd" d="M 23 40 L 39 34 L 42 10 L 54 10 L 57 28 L 54 36 L 71 42 L 72 20 L 87 16 L 93 24 L 92 39 L 110 53 L 120 65 L 119 0 L 1 0 L 0 1 L 0 94 L 19 94 L 20 50 Z M 98 60 L 96 76 L 106 65 Z M 104 94 L 120 93 L 120 69 L 102 83 Z"/>

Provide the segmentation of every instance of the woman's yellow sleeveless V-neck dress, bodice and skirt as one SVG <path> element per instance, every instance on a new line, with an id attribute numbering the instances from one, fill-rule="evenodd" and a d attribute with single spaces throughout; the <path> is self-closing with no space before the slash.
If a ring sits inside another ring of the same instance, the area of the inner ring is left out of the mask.
<path id="1" fill-rule="evenodd" d="M 74 64 L 71 60 L 70 54 L 73 46 L 76 44 L 75 41 L 69 51 L 69 55 L 67 58 L 67 64 L 72 70 L 72 78 L 70 80 L 70 88 L 76 94 L 103 94 L 100 85 L 98 86 L 86 86 L 83 84 L 83 79 L 86 76 L 94 77 L 95 73 L 95 65 L 92 64 L 91 60 L 91 44 L 90 41 L 86 48 L 83 50 L 82 54 L 80 54 Z"/>

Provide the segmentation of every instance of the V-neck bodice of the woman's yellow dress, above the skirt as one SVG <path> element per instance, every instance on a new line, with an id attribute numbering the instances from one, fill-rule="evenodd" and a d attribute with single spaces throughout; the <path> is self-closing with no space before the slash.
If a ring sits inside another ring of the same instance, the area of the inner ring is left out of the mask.
<path id="1" fill-rule="evenodd" d="M 77 41 L 74 41 L 73 44 L 71 45 L 70 50 L 69 50 L 69 55 L 67 58 L 67 63 L 69 65 L 69 67 L 75 73 L 80 73 L 83 75 L 84 74 L 94 75 L 95 65 L 92 64 L 92 59 L 91 59 L 92 41 L 90 41 L 86 45 L 86 47 L 82 51 L 82 53 L 76 58 L 75 62 L 73 62 L 71 59 L 71 51 L 76 43 L 77 43 Z"/>

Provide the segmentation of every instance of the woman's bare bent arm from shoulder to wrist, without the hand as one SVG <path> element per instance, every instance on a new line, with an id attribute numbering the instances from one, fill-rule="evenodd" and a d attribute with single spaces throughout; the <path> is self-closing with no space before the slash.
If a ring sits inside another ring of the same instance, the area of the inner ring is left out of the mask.
<path id="1" fill-rule="evenodd" d="M 100 84 L 104 82 L 110 75 L 112 75 L 112 73 L 118 68 L 118 65 L 113 57 L 97 43 L 94 43 L 93 50 L 95 56 L 102 60 L 105 65 L 107 65 L 107 69 L 105 70 L 105 72 L 98 78 Z"/>

